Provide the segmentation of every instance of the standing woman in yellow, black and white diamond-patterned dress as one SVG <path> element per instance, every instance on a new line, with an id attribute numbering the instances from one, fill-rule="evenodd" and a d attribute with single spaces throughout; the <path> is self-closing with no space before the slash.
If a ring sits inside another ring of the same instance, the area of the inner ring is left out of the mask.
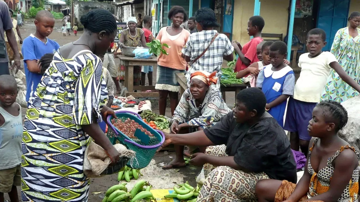
<path id="1" fill-rule="evenodd" d="M 102 116 L 114 112 L 104 105 L 107 90 L 96 56 L 114 41 L 116 21 L 104 9 L 91 10 L 80 21 L 84 34 L 54 54 L 29 101 L 22 138 L 22 201 L 87 201 L 83 160 L 91 138 L 112 162 L 119 159 L 98 125 Z"/>

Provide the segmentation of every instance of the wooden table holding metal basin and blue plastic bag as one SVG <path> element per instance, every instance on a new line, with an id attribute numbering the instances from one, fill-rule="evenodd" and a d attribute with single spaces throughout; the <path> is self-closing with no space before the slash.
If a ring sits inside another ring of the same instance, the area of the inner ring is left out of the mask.
<path id="1" fill-rule="evenodd" d="M 117 57 L 125 62 L 125 87 L 127 88 L 126 96 L 132 95 L 134 97 L 159 97 L 158 92 L 134 92 L 155 90 L 155 86 L 134 86 L 134 66 L 153 66 L 156 72 L 157 58 L 150 59 L 136 59 L 124 55 L 117 55 Z"/>

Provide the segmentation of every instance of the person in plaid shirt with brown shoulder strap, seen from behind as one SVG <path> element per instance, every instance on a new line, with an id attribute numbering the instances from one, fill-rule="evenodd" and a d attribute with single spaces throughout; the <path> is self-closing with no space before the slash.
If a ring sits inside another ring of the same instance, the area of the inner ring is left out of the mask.
<path id="1" fill-rule="evenodd" d="M 201 8 L 196 12 L 195 19 L 198 32 L 192 33 L 186 42 L 186 46 L 181 51 L 186 62 L 190 65 L 186 73 L 188 86 L 190 86 L 190 75 L 195 71 L 206 71 L 208 73 L 216 71 L 216 77 L 220 79 L 223 59 L 227 61 L 234 60 L 234 47 L 226 35 L 218 34 L 211 43 L 213 37 L 217 34 L 214 27 L 220 26 L 216 22 L 215 12 L 210 8 Z M 196 60 L 207 47 L 209 48 L 204 55 Z M 212 84 L 212 87 L 220 88 L 220 82 Z"/>

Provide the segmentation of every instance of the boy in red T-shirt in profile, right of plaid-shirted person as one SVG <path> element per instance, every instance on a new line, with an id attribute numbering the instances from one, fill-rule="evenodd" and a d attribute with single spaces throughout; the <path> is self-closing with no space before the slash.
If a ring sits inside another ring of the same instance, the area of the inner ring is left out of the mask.
<path id="1" fill-rule="evenodd" d="M 251 17 L 248 21 L 248 35 L 253 36 L 249 42 L 247 42 L 244 47 L 241 47 L 240 43 L 233 42 L 234 50 L 238 54 L 239 58 L 235 65 L 235 72 L 246 69 L 252 63 L 258 62 L 259 59 L 256 55 L 257 45 L 264 41 L 261 38 L 261 31 L 265 26 L 264 18 L 260 15 L 255 15 Z"/>

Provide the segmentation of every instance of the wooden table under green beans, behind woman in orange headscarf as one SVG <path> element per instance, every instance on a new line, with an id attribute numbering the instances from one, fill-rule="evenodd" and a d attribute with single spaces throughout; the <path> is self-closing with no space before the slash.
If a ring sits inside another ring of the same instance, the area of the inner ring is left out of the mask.
<path id="1" fill-rule="evenodd" d="M 185 74 L 183 72 L 175 73 L 177 82 L 180 84 L 180 97 L 185 92 L 185 89 L 188 88 L 188 82 L 186 81 Z M 247 87 L 250 87 L 249 84 L 229 84 L 224 86 L 223 84 L 220 84 L 220 91 L 222 93 L 222 99 L 226 102 L 225 92 L 234 92 L 235 91 L 235 97 L 238 94 L 239 91 L 242 89 L 245 89 Z"/>

